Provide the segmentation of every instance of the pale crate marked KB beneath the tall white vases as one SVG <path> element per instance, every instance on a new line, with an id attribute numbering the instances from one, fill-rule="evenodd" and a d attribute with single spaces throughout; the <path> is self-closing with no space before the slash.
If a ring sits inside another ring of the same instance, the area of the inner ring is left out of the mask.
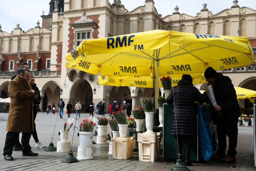
<path id="1" fill-rule="evenodd" d="M 155 162 L 159 159 L 161 133 L 138 133 L 139 161 Z"/>

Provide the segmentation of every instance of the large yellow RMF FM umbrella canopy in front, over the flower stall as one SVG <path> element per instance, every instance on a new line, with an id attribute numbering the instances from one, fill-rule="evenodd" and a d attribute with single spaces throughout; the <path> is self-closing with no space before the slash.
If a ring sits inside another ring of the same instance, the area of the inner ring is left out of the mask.
<path id="1" fill-rule="evenodd" d="M 163 76 L 241 67 L 255 58 L 247 37 L 153 30 L 84 40 L 66 62 L 95 75 Z"/>

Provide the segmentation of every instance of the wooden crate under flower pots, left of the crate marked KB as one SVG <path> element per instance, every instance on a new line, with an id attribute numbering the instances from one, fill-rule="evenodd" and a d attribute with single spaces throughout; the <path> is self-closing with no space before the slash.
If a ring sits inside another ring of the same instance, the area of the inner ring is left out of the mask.
<path id="1" fill-rule="evenodd" d="M 111 138 L 112 140 L 112 158 L 130 159 L 133 157 L 133 137 Z"/>

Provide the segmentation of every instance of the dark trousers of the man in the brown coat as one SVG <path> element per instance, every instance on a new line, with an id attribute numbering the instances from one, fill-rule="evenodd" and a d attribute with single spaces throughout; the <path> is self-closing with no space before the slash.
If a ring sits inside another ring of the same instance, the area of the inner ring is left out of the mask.
<path id="1" fill-rule="evenodd" d="M 13 146 L 15 144 L 15 141 L 19 137 L 20 132 L 7 132 L 6 139 L 5 139 L 5 147 L 4 147 L 4 153 L 3 155 L 11 155 Z M 29 153 L 31 151 L 31 147 L 29 145 L 29 140 L 31 137 L 31 132 L 22 132 L 22 138 L 21 143 L 23 145 L 23 154 Z"/>

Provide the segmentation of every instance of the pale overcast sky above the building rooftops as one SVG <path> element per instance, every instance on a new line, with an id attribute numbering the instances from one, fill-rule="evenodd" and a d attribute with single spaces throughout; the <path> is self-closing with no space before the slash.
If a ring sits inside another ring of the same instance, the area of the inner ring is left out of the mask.
<path id="1" fill-rule="evenodd" d="M 109 0 L 112 4 L 114 0 Z M 133 11 L 138 6 L 145 5 L 145 0 L 121 0 L 122 4 L 128 11 Z M 188 14 L 193 17 L 200 13 L 203 4 L 207 4 L 209 11 L 213 15 L 224 9 L 230 9 L 233 5 L 233 0 L 154 0 L 158 14 L 162 17 L 171 15 L 174 8 L 178 5 L 180 14 Z M 2 31 L 11 33 L 20 24 L 20 28 L 25 32 L 36 26 L 39 20 L 42 26 L 42 11 L 48 15 L 50 8 L 50 0 L 1 0 L 0 2 L 0 24 Z M 239 0 L 240 7 L 249 7 L 256 10 L 256 0 Z"/>

